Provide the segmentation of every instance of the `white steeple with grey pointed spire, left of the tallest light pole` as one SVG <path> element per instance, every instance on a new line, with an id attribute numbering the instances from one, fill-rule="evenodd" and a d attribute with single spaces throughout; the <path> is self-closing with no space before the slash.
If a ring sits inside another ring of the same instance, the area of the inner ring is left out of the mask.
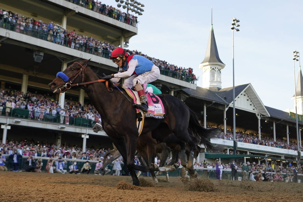
<path id="1" fill-rule="evenodd" d="M 206 54 L 204 60 L 199 65 L 199 68 L 203 70 L 202 88 L 208 88 L 210 90 L 221 89 L 221 70 L 224 67 L 225 64 L 219 58 L 218 48 L 215 40 L 211 8 L 211 30 L 208 38 Z"/>

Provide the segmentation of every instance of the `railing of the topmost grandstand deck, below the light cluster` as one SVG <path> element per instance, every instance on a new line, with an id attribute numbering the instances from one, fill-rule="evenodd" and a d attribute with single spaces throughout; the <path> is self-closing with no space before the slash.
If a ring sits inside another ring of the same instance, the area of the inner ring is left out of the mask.
<path id="1" fill-rule="evenodd" d="M 94 12 L 100 13 L 102 15 L 108 16 L 110 18 L 113 18 L 115 20 L 118 20 L 120 22 L 124 22 L 125 24 L 132 25 L 134 27 L 137 27 L 138 21 L 133 20 L 131 18 L 128 18 L 127 16 L 123 16 L 117 12 L 114 12 L 112 10 L 106 9 L 106 6 L 98 6 L 96 4 L 93 4 L 92 2 L 86 1 L 86 0 L 65 0 L 74 4 L 77 4 L 79 6 L 82 6 L 83 8 L 87 8 L 89 10 L 92 10 Z M 104 4 L 102 4 L 104 5 Z"/>

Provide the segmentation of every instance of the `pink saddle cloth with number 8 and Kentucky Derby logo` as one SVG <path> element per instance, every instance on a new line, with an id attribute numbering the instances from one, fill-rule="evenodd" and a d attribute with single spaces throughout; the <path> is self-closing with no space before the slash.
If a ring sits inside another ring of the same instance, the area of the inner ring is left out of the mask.
<path id="1" fill-rule="evenodd" d="M 125 88 L 125 90 L 128 90 L 128 94 L 132 95 L 134 103 L 138 104 L 136 97 L 134 95 L 134 91 L 132 91 L 129 88 Z M 137 92 L 135 92 L 135 93 L 138 95 Z M 148 111 L 146 113 L 144 113 L 144 117 L 145 118 L 156 118 L 156 119 L 165 118 L 165 110 L 164 110 L 164 106 L 163 106 L 161 99 L 157 95 L 152 94 L 150 92 L 146 93 L 146 97 L 147 97 L 147 102 L 148 102 Z M 139 112 L 138 109 L 136 109 L 136 110 L 137 110 L 137 112 Z"/>

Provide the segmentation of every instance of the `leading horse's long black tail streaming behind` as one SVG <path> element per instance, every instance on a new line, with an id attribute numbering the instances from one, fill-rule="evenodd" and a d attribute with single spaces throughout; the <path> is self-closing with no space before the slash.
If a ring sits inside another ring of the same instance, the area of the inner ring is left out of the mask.
<path id="1" fill-rule="evenodd" d="M 210 138 L 216 137 L 220 134 L 219 128 L 207 129 L 200 125 L 198 116 L 194 111 L 188 108 L 190 117 L 188 124 L 188 131 L 200 141 L 200 144 L 204 144 L 208 151 L 219 151 L 221 147 L 214 145 L 210 142 Z"/>

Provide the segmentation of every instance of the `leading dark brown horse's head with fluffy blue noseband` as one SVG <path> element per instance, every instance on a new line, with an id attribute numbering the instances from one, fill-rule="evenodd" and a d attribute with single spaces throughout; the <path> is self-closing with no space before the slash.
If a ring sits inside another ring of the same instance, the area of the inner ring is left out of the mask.
<path id="1" fill-rule="evenodd" d="M 69 65 L 63 72 L 58 72 L 57 77 L 50 82 L 49 89 L 55 94 L 60 94 L 66 88 L 70 88 L 72 83 L 81 83 L 83 79 L 83 67 L 89 60 L 82 60 L 79 62 L 74 62 Z"/>

